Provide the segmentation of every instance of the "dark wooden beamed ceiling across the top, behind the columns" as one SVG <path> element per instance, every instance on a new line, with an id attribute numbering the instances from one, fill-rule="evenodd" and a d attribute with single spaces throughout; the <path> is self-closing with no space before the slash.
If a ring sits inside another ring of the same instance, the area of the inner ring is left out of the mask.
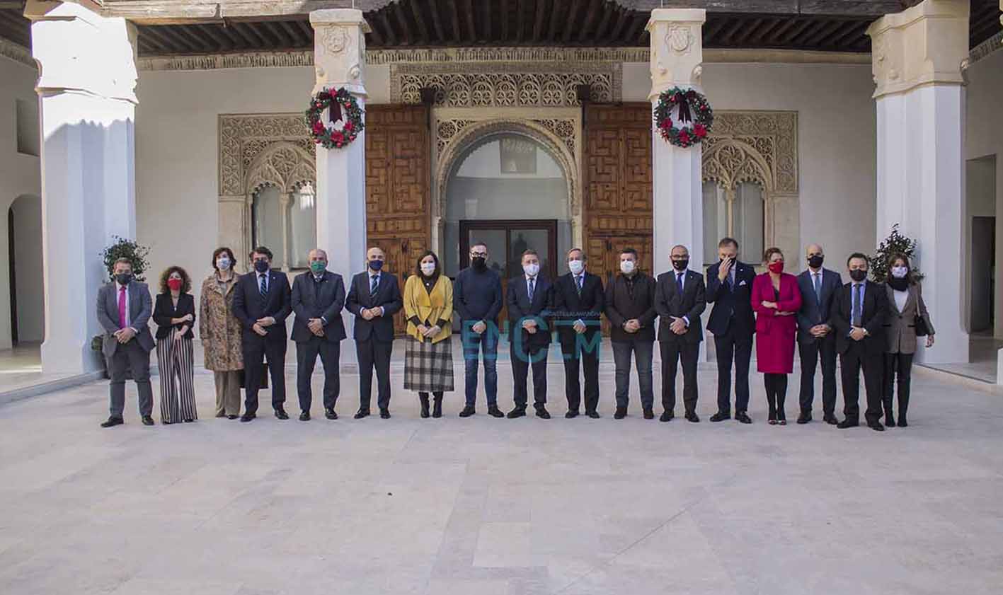
<path id="1" fill-rule="evenodd" d="M 878 17 L 917 0 L 665 0 L 707 10 L 707 48 L 868 52 Z M 369 48 L 448 46 L 646 47 L 661 0 L 356 0 Z M 104 0 L 101 11 L 138 24 L 139 54 L 208 54 L 313 46 L 308 14 L 351 0 Z M 971 0 L 970 44 L 1000 28 L 998 0 Z M 0 37 L 30 46 L 23 2 L 0 0 Z M 262 13 L 265 14 L 262 14 Z"/>

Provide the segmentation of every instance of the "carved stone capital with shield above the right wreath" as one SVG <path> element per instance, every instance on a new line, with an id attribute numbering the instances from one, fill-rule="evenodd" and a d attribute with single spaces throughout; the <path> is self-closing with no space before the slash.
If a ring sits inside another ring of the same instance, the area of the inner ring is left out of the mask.
<path id="1" fill-rule="evenodd" d="M 651 11 L 650 99 L 672 86 L 700 85 L 703 69 L 701 28 L 706 11 L 697 8 L 657 8 Z"/>

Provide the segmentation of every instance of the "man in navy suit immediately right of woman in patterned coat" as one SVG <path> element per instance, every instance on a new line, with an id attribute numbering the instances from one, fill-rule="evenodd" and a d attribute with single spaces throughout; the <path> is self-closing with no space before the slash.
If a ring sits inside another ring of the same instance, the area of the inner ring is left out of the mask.
<path id="1" fill-rule="evenodd" d="M 262 360 L 268 361 L 272 377 L 272 409 L 275 417 L 286 415 L 286 318 L 293 311 L 289 278 L 272 270 L 272 250 L 261 245 L 251 252 L 254 270 L 242 275 L 234 291 L 234 316 L 244 327 L 245 405 L 242 422 L 257 417 L 261 390 Z"/>

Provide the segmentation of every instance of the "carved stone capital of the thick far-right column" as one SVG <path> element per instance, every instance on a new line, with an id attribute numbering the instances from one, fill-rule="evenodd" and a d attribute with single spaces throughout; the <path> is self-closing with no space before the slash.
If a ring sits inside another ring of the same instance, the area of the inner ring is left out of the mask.
<path id="1" fill-rule="evenodd" d="M 925 0 L 875 21 L 867 31 L 878 85 L 874 96 L 929 84 L 964 84 L 968 15 L 968 0 Z"/>

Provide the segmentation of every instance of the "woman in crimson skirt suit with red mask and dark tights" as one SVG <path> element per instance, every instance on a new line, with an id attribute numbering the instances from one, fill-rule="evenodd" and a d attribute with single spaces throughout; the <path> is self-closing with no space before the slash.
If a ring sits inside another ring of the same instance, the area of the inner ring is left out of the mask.
<path id="1" fill-rule="evenodd" d="M 756 370 L 766 384 L 769 423 L 787 425 L 783 400 L 787 395 L 787 375 L 794 367 L 794 338 L 801 308 L 797 277 L 783 272 L 783 252 L 771 247 L 763 256 L 768 272 L 752 282 L 752 310 L 755 321 Z"/>

